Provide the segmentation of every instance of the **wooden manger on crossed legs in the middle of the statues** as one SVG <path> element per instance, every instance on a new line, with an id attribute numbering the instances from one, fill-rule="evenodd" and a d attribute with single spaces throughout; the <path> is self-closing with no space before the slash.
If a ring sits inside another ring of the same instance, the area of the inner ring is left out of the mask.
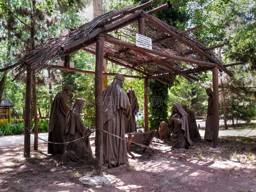
<path id="1" fill-rule="evenodd" d="M 138 143 L 138 144 L 142 144 L 142 145 L 146 145 L 146 146 L 149 146 L 151 140 L 153 139 L 153 137 L 155 137 L 157 134 L 157 131 L 154 130 L 154 131 L 150 131 L 150 132 L 144 132 L 144 133 L 127 133 L 127 140 L 129 141 L 126 141 L 126 148 L 127 148 L 127 153 L 132 156 L 133 159 L 135 159 L 136 157 L 131 153 L 131 151 L 129 150 L 129 148 L 132 146 L 132 145 L 136 145 L 134 143 Z M 132 143 L 134 142 L 134 143 Z M 143 148 L 143 152 L 145 152 L 147 149 L 147 147 L 144 147 Z M 151 148 L 148 148 L 149 150 L 153 151 L 153 149 Z"/>

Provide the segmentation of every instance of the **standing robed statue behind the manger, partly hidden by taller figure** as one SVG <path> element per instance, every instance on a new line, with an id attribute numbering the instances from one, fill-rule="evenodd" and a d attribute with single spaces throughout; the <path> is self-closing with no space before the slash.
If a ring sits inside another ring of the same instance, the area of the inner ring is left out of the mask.
<path id="1" fill-rule="evenodd" d="M 126 115 L 124 115 L 124 127 L 125 127 L 125 133 L 132 133 L 132 132 L 136 132 L 135 115 L 137 115 L 140 107 L 138 104 L 138 99 L 134 94 L 134 90 L 132 90 L 131 88 L 128 89 L 127 96 L 131 104 L 132 114 L 130 119 L 127 119 Z"/>

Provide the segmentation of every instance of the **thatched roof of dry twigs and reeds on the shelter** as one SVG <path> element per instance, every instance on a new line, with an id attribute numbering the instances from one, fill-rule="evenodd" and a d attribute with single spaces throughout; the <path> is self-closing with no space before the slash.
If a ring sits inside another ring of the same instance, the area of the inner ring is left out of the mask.
<path id="1" fill-rule="evenodd" d="M 24 73 L 28 67 L 35 72 L 40 72 L 42 69 L 47 68 L 48 61 L 71 54 L 80 49 L 95 53 L 96 38 L 98 34 L 101 33 L 108 38 L 121 39 L 124 42 L 135 44 L 136 33 L 138 33 L 138 16 L 141 13 L 144 13 L 144 15 L 147 14 L 141 10 L 145 6 L 140 7 L 138 4 L 131 5 L 121 10 L 114 10 L 100 15 L 80 27 L 69 30 L 64 35 L 49 39 L 45 44 L 36 47 L 35 50 L 15 60 L 15 63 L 12 63 L 12 65 L 6 69 L 15 68 L 18 70 L 19 73 L 16 76 L 18 77 Z M 154 10 L 148 13 L 153 12 Z M 159 27 L 158 24 L 164 26 L 165 30 Z M 169 34 L 166 30 L 169 31 Z M 172 33 L 177 34 L 178 37 Z M 211 69 L 209 65 L 199 66 L 194 60 L 218 64 L 219 69 L 224 70 L 229 76 L 232 76 L 232 74 L 220 64 L 220 61 L 214 56 L 211 50 L 204 51 L 206 47 L 194 36 L 189 33 L 181 32 L 177 28 L 164 23 L 154 16 L 151 18 L 145 17 L 145 35 L 152 39 L 153 50 L 169 55 L 180 56 L 185 59 L 193 60 L 193 62 L 174 60 L 165 56 L 149 53 L 147 50 L 141 52 L 129 49 L 123 45 L 108 42 L 105 42 L 104 58 L 121 64 L 126 68 L 138 71 L 148 78 L 164 77 L 164 80 L 167 82 L 171 82 L 173 77 L 178 74 L 188 79 L 196 80 L 200 77 L 201 71 Z M 184 43 L 184 41 L 188 43 Z M 196 51 L 195 47 L 199 49 L 199 52 Z M 203 53 L 200 53 L 200 51 Z"/>

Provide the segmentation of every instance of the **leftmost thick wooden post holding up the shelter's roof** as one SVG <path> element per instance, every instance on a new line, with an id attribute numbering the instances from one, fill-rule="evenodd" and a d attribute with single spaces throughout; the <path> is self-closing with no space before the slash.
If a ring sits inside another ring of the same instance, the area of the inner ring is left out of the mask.
<path id="1" fill-rule="evenodd" d="M 31 87 L 32 70 L 27 69 L 26 77 L 26 95 L 25 95 L 25 127 L 24 127 L 24 157 L 30 157 L 30 122 L 31 122 Z M 27 129 L 26 129 L 27 128 Z"/>

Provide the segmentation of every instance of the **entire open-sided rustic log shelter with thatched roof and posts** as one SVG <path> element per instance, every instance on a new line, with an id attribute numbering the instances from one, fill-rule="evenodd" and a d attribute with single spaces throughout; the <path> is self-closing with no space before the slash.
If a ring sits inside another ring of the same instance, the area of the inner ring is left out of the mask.
<path id="1" fill-rule="evenodd" d="M 160 11 L 164 4 L 151 11 L 143 8 L 152 4 L 151 1 L 139 5 L 131 5 L 121 10 L 107 12 L 80 27 L 70 28 L 66 34 L 49 39 L 45 44 L 16 60 L 8 70 L 15 68 L 19 72 L 16 77 L 27 71 L 25 126 L 30 126 L 31 76 L 45 68 L 95 74 L 96 129 L 102 129 L 102 60 L 103 58 L 140 73 L 141 75 L 124 75 L 125 77 L 144 79 L 144 127 L 148 131 L 148 79 L 156 79 L 164 84 L 175 80 L 180 75 L 189 81 L 197 81 L 200 73 L 212 70 L 213 78 L 213 147 L 218 146 L 219 127 L 219 92 L 218 69 L 232 76 L 214 56 L 212 49 L 223 45 L 206 48 L 190 31 L 180 31 L 152 14 Z M 136 33 L 152 39 L 152 50 L 136 46 Z M 69 68 L 69 55 L 78 50 L 96 55 L 95 71 Z M 65 56 L 65 67 L 48 65 L 48 61 Z M 115 75 L 115 73 L 104 73 Z M 103 139 L 102 132 L 96 132 L 96 174 L 102 175 Z M 30 156 L 30 133 L 25 130 L 24 156 Z"/>

